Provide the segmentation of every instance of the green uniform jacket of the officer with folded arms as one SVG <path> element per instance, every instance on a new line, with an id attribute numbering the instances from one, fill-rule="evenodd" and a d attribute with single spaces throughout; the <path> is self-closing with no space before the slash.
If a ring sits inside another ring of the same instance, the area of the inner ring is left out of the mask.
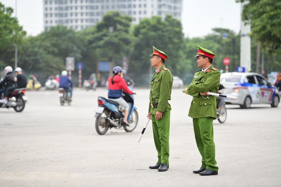
<path id="1" fill-rule="evenodd" d="M 193 96 L 188 113 L 188 116 L 192 118 L 217 118 L 216 96 L 208 95 L 209 99 L 204 99 L 207 96 L 203 96 L 203 98 L 199 93 L 208 91 L 217 93 L 220 86 L 220 71 L 212 68 L 213 65 L 203 73 L 201 73 L 201 70 L 197 71 L 187 87 L 187 93 Z"/>

